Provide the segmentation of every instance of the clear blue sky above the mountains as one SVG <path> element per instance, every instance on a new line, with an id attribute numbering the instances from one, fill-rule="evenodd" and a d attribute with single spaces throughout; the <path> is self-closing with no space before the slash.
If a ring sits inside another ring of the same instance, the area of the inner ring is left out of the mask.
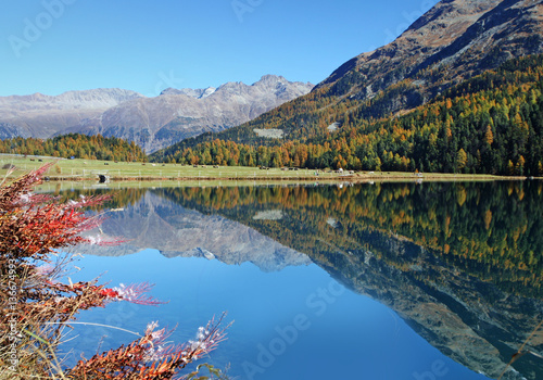
<path id="1" fill-rule="evenodd" d="M 2 0 L 0 96 L 324 80 L 437 0 Z"/>

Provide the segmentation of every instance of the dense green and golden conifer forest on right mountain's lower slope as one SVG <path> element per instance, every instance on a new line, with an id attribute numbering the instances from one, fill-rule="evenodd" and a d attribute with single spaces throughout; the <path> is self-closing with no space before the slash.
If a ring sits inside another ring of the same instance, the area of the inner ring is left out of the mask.
<path id="1" fill-rule="evenodd" d="M 399 90 L 403 86 L 409 87 L 408 80 L 399 84 Z M 323 111 L 312 130 L 296 129 L 299 134 L 289 141 L 238 143 L 231 134 L 242 129 L 236 129 L 220 139 L 204 141 L 204 137 L 193 148 L 174 145 L 151 157 L 190 164 L 538 176 L 543 175 L 542 92 L 543 55 L 531 55 L 465 80 L 403 116 L 368 118 L 364 109 L 351 112 L 346 101 L 336 131 L 328 128 L 332 119 Z M 319 99 L 317 93 L 313 92 Z M 376 97 L 370 102 L 379 101 Z M 285 123 L 285 118 L 304 117 L 285 115 L 291 103 L 267 113 L 265 128 L 281 118 Z M 318 107 L 326 109 L 320 103 Z"/>

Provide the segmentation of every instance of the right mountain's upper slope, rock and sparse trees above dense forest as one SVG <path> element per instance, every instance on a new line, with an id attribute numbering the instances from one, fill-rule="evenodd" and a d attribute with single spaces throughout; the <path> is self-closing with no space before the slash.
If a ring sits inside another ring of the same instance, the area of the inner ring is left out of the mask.
<path id="1" fill-rule="evenodd" d="M 508 59 L 541 53 L 542 36 L 541 0 L 443 0 L 395 41 L 350 60 L 310 94 L 184 147 L 215 138 L 253 145 L 315 141 L 333 123 L 341 129 L 348 115 L 367 121 L 404 113 Z M 262 138 L 262 129 L 278 129 L 283 140 Z"/>

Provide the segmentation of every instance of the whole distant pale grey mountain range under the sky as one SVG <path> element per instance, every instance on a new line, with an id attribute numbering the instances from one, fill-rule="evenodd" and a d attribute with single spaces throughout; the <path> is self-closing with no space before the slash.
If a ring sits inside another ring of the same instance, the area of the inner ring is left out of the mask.
<path id="1" fill-rule="evenodd" d="M 122 89 L 0 97 L 0 138 L 101 134 L 135 141 L 152 153 L 203 131 L 245 123 L 312 88 L 312 84 L 265 75 L 251 86 L 168 88 L 154 98 Z"/>

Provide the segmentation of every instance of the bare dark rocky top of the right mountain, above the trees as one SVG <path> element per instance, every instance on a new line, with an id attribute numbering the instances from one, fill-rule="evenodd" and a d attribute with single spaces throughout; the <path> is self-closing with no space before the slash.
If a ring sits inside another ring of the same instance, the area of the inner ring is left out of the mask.
<path id="1" fill-rule="evenodd" d="M 443 0 L 393 42 L 363 53 L 316 89 L 370 100 L 405 81 L 388 112 L 421 104 L 444 88 L 503 62 L 543 52 L 543 2 Z"/>

